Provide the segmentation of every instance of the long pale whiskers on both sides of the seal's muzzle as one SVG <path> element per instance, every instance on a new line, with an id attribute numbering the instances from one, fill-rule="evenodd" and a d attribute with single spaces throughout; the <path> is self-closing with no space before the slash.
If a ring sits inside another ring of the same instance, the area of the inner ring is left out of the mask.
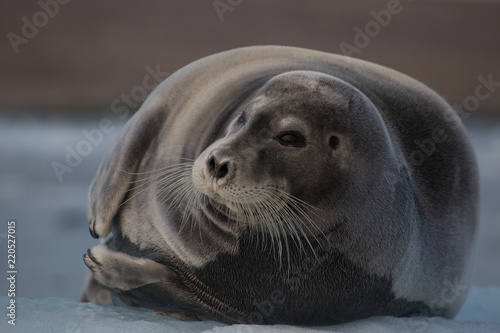
<path id="1" fill-rule="evenodd" d="M 200 206 L 209 204 L 215 211 L 226 216 L 229 222 L 247 227 L 251 237 L 256 238 L 256 243 L 262 243 L 264 247 L 270 246 L 270 250 L 276 252 L 280 261 L 284 253 L 288 259 L 290 257 L 289 239 L 299 252 L 304 251 L 304 242 L 314 252 L 310 238 L 312 236 L 316 240 L 315 234 L 321 233 L 312 219 L 317 208 L 274 186 L 256 191 L 260 200 L 248 196 L 238 201 L 209 199 L 193 184 L 192 167 L 193 162 L 184 162 L 136 173 L 136 176 L 147 176 L 133 181 L 137 185 L 130 191 L 136 193 L 123 204 L 156 187 L 160 202 L 168 202 L 175 210 L 182 211 L 179 233 L 190 221 L 193 222 L 192 231 L 194 223 L 199 224 L 200 221 L 190 217 Z"/>

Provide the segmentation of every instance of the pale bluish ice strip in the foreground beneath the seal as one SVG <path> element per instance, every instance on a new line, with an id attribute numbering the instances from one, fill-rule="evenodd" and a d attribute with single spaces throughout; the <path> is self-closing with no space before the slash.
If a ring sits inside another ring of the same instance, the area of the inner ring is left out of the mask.
<path id="1" fill-rule="evenodd" d="M 9 299 L 0 296 L 6 306 Z M 4 307 L 5 309 L 5 307 Z M 63 298 L 16 300 L 16 325 L 3 316 L 0 332 L 500 332 L 500 287 L 473 287 L 454 320 L 443 318 L 375 317 L 329 327 L 225 325 L 183 322 L 154 316 L 149 310 L 78 303 Z"/>

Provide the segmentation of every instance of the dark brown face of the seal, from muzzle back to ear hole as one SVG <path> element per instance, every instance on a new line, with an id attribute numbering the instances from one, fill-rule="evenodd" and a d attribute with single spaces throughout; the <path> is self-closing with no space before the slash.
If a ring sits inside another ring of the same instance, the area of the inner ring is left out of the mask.
<path id="1" fill-rule="evenodd" d="M 239 221 L 273 225 L 284 210 L 303 224 L 296 212 L 331 206 L 349 177 L 349 101 L 325 76 L 273 78 L 196 159 L 195 189 Z"/>

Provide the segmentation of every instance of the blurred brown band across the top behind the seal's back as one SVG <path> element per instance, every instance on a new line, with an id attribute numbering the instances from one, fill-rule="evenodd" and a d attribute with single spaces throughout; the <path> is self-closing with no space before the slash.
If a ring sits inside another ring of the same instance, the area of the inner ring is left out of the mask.
<path id="1" fill-rule="evenodd" d="M 215 52 L 279 44 L 341 54 L 350 45 L 451 104 L 500 114 L 499 32 L 494 1 L 3 0 L 0 111 L 109 109 L 148 66 L 172 73 Z"/>

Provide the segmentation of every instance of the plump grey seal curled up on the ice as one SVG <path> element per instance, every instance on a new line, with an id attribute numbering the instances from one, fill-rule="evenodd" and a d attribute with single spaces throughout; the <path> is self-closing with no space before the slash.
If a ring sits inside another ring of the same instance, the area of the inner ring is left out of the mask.
<path id="1" fill-rule="evenodd" d="M 103 242 L 84 261 L 115 300 L 187 320 L 451 318 L 477 212 L 474 154 L 431 89 L 246 47 L 177 71 L 130 119 L 90 190 Z"/>

